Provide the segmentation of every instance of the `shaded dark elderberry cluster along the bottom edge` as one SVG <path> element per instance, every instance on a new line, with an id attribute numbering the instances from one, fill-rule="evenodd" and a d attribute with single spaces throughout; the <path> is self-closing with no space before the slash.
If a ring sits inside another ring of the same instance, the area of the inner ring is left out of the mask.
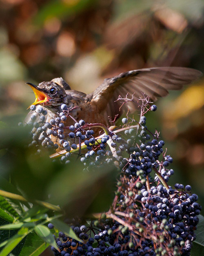
<path id="1" fill-rule="evenodd" d="M 59 232 L 55 238 L 60 252 L 51 247 L 55 256 L 139 256 L 156 255 L 152 248 L 151 241 L 141 241 L 141 247 L 136 248 L 130 242 L 130 233 L 126 227 L 122 227 L 119 222 L 104 220 L 103 224 L 95 227 L 93 223 L 86 227 L 71 226 L 75 234 L 83 242 L 71 239 Z M 52 224 L 48 227 L 53 229 Z M 119 235 L 119 234 L 122 234 Z M 117 238 L 117 241 L 115 241 Z"/>

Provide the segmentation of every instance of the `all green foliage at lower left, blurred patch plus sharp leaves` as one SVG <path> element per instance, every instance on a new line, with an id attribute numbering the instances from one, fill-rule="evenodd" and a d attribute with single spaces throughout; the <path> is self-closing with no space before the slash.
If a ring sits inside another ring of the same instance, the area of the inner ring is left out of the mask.
<path id="1" fill-rule="evenodd" d="M 11 251 L 11 255 L 37 256 L 48 245 L 57 248 L 49 222 L 55 226 L 55 235 L 62 231 L 78 240 L 64 222 L 108 211 L 115 196 L 116 168 L 88 172 L 83 171 L 78 154 L 72 155 L 69 165 L 50 159 L 47 150 L 36 154 L 27 146 L 29 129 L 0 129 L 2 256 Z"/>

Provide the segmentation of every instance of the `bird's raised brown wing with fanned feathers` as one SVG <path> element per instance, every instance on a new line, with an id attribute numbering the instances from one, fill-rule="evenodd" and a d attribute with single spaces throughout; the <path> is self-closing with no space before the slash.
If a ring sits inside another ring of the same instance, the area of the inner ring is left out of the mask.
<path id="1" fill-rule="evenodd" d="M 198 70 L 181 67 L 131 70 L 105 79 L 86 98 L 97 104 L 104 116 L 114 118 L 116 114 L 122 115 L 120 111 L 121 102 L 116 101 L 119 95 L 125 98 L 129 93 L 129 98 L 131 98 L 134 93 L 136 102 L 128 102 L 122 108 L 123 111 L 129 109 L 133 112 L 138 108 L 136 98 L 144 97 L 145 94 L 155 101 L 158 97 L 168 95 L 169 90 L 180 90 L 184 85 L 194 82 L 201 76 L 202 72 Z"/>

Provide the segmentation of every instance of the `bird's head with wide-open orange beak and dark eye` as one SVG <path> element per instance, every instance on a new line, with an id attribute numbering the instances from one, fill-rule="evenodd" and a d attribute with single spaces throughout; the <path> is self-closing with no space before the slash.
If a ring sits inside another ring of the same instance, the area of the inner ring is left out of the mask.
<path id="1" fill-rule="evenodd" d="M 38 86 L 27 83 L 35 93 L 35 102 L 32 105 L 43 105 L 58 108 L 63 98 L 66 97 L 65 90 L 70 90 L 69 85 L 60 78 L 55 78 L 49 82 L 42 82 Z"/>

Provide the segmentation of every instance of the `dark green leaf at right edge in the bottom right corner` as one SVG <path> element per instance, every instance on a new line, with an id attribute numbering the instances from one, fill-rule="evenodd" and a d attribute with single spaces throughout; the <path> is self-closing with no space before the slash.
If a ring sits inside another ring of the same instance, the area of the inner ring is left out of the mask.
<path id="1" fill-rule="evenodd" d="M 204 255 L 204 217 L 199 215 L 199 224 L 195 231 L 196 239 L 193 242 L 191 256 Z"/>

